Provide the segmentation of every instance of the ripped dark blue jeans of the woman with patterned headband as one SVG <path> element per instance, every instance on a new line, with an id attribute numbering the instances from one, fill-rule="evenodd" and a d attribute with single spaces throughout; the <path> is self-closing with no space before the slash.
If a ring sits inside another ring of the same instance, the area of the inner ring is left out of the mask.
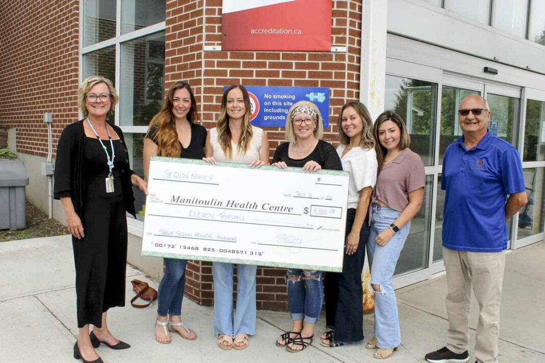
<path id="1" fill-rule="evenodd" d="M 307 324 L 316 324 L 324 300 L 322 272 L 288 268 L 286 280 L 292 320 L 304 320 Z"/>

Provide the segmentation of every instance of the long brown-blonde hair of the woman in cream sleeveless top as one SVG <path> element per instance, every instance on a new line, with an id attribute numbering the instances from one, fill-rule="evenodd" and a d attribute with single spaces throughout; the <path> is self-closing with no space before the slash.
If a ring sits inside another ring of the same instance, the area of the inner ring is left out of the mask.
<path id="1" fill-rule="evenodd" d="M 246 108 L 242 123 L 242 131 L 240 133 L 240 139 L 237 144 L 237 151 L 242 151 L 243 153 L 246 153 L 246 151 L 250 147 L 250 141 L 253 137 L 252 125 L 250 125 L 250 96 L 248 95 L 248 91 L 243 85 L 233 84 L 225 90 L 223 96 L 221 97 L 220 117 L 219 119 L 217 119 L 216 124 L 217 140 L 221 145 L 221 149 L 229 158 L 231 158 L 231 156 L 233 155 L 233 150 L 231 146 L 231 129 L 229 129 L 229 115 L 227 114 L 227 95 L 233 89 L 237 88 L 242 91 L 244 106 Z"/>

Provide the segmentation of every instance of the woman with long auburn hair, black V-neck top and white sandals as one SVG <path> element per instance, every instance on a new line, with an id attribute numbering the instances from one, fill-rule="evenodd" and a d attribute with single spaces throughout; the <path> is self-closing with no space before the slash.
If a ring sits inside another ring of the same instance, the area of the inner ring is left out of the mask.
<path id="1" fill-rule="evenodd" d="M 179 81 L 167 91 L 163 106 L 149 123 L 144 139 L 144 175 L 149 177 L 151 156 L 204 157 L 206 129 L 197 124 L 197 104 L 188 83 Z M 159 284 L 155 340 L 167 344 L 170 333 L 184 339 L 195 340 L 195 331 L 181 322 L 181 303 L 185 289 L 185 267 L 187 260 L 163 259 L 165 274 Z M 168 325 L 168 329 L 167 329 Z"/>

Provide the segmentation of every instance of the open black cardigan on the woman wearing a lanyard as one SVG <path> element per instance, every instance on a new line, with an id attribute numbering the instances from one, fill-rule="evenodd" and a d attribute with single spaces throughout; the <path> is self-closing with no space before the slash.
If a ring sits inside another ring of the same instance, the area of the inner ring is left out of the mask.
<path id="1" fill-rule="evenodd" d="M 116 131 L 128 155 L 123 132 L 116 125 L 108 124 Z M 96 141 L 98 142 L 98 141 Z M 117 141 L 119 142 L 119 141 Z M 60 134 L 55 157 L 53 198 L 69 196 L 74 210 L 80 214 L 86 196 L 86 150 L 87 137 L 83 129 L 83 120 L 67 125 Z M 109 143 L 109 141 L 108 141 Z M 106 155 L 104 155 L 106 158 Z M 129 161 L 120 168 L 125 210 L 135 216 L 134 195 L 132 194 L 131 175 L 135 174 L 129 167 Z M 119 171 L 119 170 L 118 170 Z"/>

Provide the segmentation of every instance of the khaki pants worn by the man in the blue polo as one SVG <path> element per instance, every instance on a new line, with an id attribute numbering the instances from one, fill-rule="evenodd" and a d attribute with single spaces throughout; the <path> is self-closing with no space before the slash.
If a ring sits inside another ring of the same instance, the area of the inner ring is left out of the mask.
<path id="1" fill-rule="evenodd" d="M 498 362 L 501 285 L 505 251 L 495 253 L 443 248 L 447 286 L 449 331 L 446 347 L 461 354 L 468 349 L 471 285 L 480 306 L 475 334 L 475 358 L 479 363 Z"/>

